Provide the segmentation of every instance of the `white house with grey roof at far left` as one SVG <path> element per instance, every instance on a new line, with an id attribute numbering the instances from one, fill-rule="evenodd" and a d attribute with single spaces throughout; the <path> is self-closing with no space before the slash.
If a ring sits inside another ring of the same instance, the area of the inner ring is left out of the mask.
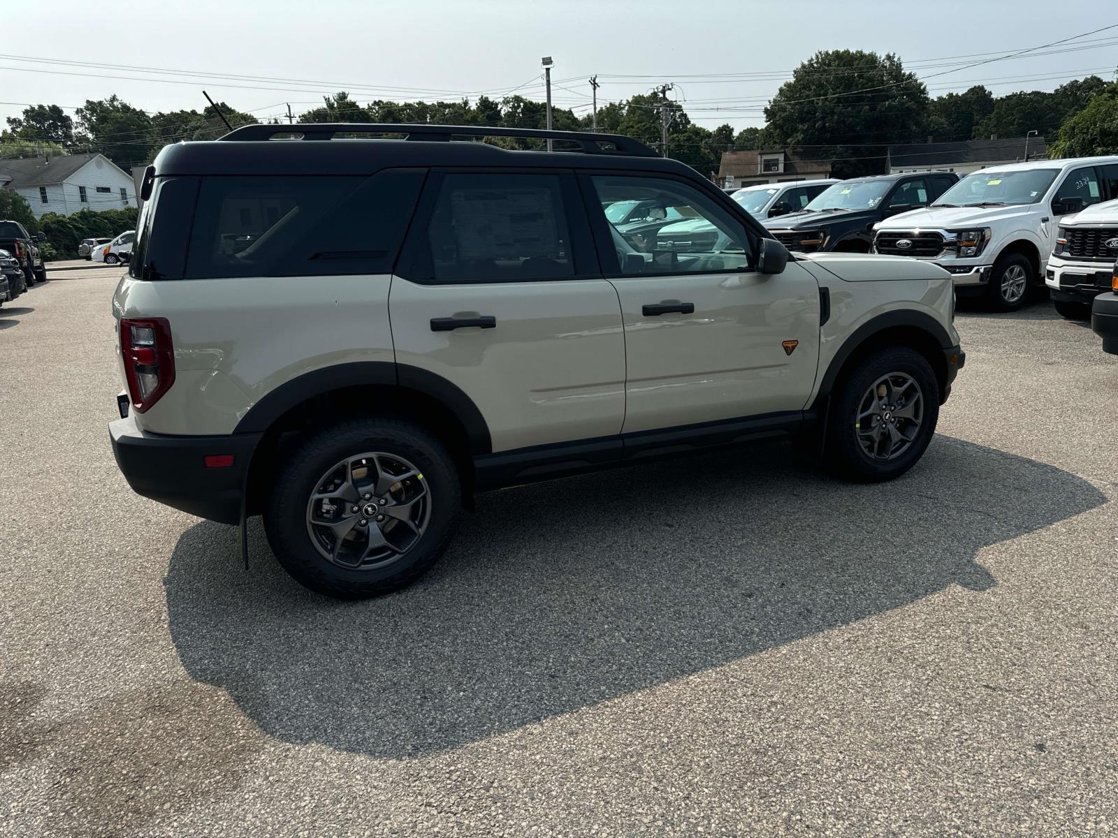
<path id="1" fill-rule="evenodd" d="M 0 160 L 0 188 L 23 196 L 36 218 L 136 206 L 132 175 L 104 154 Z"/>

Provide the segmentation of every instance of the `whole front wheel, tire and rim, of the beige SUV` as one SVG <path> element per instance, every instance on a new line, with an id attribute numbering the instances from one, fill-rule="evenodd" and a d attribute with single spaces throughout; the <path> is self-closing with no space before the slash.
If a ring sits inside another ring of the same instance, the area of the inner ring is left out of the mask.
<path id="1" fill-rule="evenodd" d="M 845 377 L 827 421 L 828 465 L 862 483 L 891 480 L 920 459 L 939 419 L 939 384 L 928 360 L 893 346 Z"/>

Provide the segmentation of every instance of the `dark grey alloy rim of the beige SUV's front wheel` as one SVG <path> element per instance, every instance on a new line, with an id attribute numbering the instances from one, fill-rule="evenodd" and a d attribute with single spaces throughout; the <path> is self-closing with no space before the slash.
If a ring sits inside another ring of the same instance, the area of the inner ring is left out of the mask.
<path id="1" fill-rule="evenodd" d="M 858 404 L 854 434 L 871 458 L 889 460 L 909 449 L 923 421 L 923 392 L 903 372 L 873 382 Z"/>

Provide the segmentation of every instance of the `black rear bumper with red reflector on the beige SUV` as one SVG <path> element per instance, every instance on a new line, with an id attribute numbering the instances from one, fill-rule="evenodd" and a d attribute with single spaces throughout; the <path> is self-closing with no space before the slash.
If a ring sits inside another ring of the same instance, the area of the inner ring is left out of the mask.
<path id="1" fill-rule="evenodd" d="M 236 524 L 245 478 L 260 434 L 180 437 L 149 434 L 135 419 L 108 423 L 113 456 L 132 489 L 191 515 Z M 207 468 L 210 455 L 233 455 L 233 465 Z"/>

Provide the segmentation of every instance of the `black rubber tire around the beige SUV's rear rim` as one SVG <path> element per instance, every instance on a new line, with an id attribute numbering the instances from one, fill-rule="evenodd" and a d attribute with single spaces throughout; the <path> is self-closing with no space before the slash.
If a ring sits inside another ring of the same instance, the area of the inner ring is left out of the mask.
<path id="1" fill-rule="evenodd" d="M 367 451 L 400 456 L 419 469 L 419 479 L 429 493 L 429 520 L 414 546 L 390 563 L 347 569 L 315 547 L 309 533 L 307 505 L 331 466 Z M 335 599 L 366 599 L 410 584 L 430 570 L 461 514 L 458 472 L 438 439 L 404 420 L 354 419 L 307 437 L 286 458 L 267 499 L 264 525 L 276 559 L 300 584 Z"/>

